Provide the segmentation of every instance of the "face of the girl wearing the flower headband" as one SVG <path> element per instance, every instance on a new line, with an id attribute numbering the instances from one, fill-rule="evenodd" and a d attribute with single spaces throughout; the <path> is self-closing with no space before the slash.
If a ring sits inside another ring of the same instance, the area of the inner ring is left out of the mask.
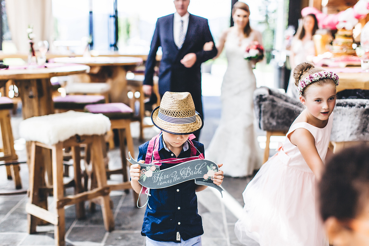
<path id="1" fill-rule="evenodd" d="M 300 101 L 308 111 L 308 116 L 319 121 L 328 120 L 336 104 L 336 86 L 327 83 L 323 86 L 311 84 L 305 96 L 300 96 Z"/>

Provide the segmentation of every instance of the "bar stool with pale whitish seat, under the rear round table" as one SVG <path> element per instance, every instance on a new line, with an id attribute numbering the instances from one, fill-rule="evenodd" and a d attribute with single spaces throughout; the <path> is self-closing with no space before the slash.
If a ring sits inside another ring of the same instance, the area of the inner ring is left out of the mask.
<path id="1" fill-rule="evenodd" d="M 110 84 L 108 83 L 70 83 L 65 87 L 70 95 L 101 95 L 109 102 Z"/>

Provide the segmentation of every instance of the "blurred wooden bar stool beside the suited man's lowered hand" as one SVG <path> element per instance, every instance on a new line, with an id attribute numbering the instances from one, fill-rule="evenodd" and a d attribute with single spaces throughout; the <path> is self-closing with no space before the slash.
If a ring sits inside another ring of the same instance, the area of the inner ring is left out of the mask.
<path id="1" fill-rule="evenodd" d="M 135 111 L 136 102 L 138 102 L 138 112 L 134 115 L 134 120 L 139 121 L 140 123 L 140 133 L 139 139 L 140 141 L 144 140 L 144 128 L 145 127 L 152 127 L 152 124 L 145 124 L 145 95 L 142 91 L 142 84 L 144 83 L 144 75 L 135 75 L 133 79 L 127 79 L 127 90 L 128 92 L 133 93 L 132 97 L 130 98 L 130 107 L 132 110 Z M 154 105 L 154 107 L 158 107 L 160 105 L 160 94 L 159 94 L 159 86 L 158 86 L 159 78 L 154 76 L 154 86 L 152 87 L 152 92 L 156 94 L 158 101 Z"/>

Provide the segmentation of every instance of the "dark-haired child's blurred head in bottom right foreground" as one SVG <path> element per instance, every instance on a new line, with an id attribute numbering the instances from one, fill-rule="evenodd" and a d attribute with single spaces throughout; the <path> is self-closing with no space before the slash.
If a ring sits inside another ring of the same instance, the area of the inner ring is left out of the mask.
<path id="1" fill-rule="evenodd" d="M 319 183 L 320 212 L 334 246 L 369 245 L 369 147 L 335 155 Z"/>

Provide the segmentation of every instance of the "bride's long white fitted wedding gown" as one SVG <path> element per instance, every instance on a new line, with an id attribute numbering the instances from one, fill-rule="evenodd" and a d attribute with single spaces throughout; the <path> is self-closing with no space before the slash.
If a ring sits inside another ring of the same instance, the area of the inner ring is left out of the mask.
<path id="1" fill-rule="evenodd" d="M 248 176 L 262 164 L 253 124 L 256 80 L 251 63 L 243 58 L 250 42 L 260 39 L 261 34 L 253 30 L 240 40 L 231 30 L 224 45 L 228 67 L 221 87 L 221 119 L 205 157 L 223 163 L 221 170 L 231 177 Z"/>

